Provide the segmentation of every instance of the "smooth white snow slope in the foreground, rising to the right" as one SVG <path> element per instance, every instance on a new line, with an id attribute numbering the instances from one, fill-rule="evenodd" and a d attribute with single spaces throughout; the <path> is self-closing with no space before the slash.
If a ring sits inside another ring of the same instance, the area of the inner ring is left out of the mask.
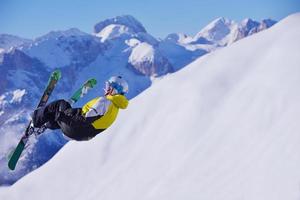
<path id="1" fill-rule="evenodd" d="M 298 13 L 156 80 L 0 198 L 299 199 L 299 34 Z"/>

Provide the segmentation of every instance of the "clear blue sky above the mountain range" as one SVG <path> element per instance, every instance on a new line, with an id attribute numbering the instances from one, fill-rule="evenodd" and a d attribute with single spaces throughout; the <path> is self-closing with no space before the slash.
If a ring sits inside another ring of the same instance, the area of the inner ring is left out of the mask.
<path id="1" fill-rule="evenodd" d="M 51 30 L 92 33 L 101 20 L 130 14 L 155 37 L 194 35 L 217 17 L 281 20 L 300 0 L 0 0 L 0 33 L 35 38 Z"/>

